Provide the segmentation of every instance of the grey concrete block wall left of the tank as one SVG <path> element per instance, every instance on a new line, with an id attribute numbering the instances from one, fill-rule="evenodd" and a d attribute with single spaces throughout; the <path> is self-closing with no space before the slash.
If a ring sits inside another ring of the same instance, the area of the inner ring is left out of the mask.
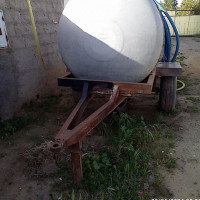
<path id="1" fill-rule="evenodd" d="M 31 0 L 41 51 L 37 54 L 26 0 L 1 0 L 10 48 L 0 50 L 0 117 L 9 119 L 37 95 L 56 93 L 57 77 L 66 74 L 57 44 L 63 0 Z"/>

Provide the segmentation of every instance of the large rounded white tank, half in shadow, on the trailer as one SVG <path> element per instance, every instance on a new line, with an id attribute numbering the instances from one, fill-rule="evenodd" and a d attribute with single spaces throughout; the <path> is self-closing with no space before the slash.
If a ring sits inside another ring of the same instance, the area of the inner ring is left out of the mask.
<path id="1" fill-rule="evenodd" d="M 58 41 L 75 77 L 140 82 L 155 67 L 164 28 L 153 0 L 69 0 Z"/>

